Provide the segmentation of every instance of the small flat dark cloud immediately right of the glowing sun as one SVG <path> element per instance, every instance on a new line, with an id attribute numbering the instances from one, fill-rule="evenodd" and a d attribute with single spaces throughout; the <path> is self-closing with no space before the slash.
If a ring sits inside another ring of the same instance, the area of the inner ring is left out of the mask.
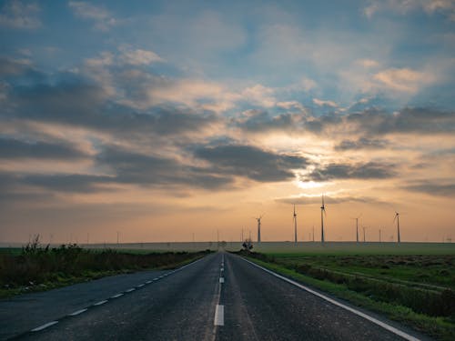
<path id="1" fill-rule="evenodd" d="M 333 179 L 384 179 L 396 175 L 396 165 L 369 162 L 366 164 L 331 164 L 320 166 L 302 181 L 329 181 Z"/>

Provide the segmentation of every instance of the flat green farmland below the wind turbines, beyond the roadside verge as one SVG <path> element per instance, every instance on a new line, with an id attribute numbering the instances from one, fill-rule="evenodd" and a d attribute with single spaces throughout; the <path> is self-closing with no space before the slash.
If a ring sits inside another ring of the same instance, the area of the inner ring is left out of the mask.
<path id="1" fill-rule="evenodd" d="M 455 289 L 454 244 L 308 243 L 258 246 L 278 264 L 302 271 L 327 270 L 402 285 Z"/>

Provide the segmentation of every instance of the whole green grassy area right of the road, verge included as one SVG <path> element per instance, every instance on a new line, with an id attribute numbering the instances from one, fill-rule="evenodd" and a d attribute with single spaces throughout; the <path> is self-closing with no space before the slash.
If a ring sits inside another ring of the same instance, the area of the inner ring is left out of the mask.
<path id="1" fill-rule="evenodd" d="M 455 339 L 455 245 L 255 246 L 256 262 L 441 340 Z"/>

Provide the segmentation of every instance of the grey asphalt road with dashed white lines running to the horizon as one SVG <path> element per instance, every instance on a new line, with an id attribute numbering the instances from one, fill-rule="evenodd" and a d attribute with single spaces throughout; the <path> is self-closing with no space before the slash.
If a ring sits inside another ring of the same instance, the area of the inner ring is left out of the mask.
<path id="1" fill-rule="evenodd" d="M 396 332 L 223 252 L 177 271 L 113 276 L 0 301 L 1 339 L 403 339 Z"/>

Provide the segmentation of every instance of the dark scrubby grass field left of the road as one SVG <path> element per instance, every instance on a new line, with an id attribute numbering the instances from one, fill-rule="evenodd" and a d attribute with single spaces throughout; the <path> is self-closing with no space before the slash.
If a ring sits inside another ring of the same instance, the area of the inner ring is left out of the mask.
<path id="1" fill-rule="evenodd" d="M 90 250 L 75 244 L 41 246 L 36 240 L 23 248 L 0 249 L 0 298 L 119 273 L 174 268 L 208 252 Z"/>

